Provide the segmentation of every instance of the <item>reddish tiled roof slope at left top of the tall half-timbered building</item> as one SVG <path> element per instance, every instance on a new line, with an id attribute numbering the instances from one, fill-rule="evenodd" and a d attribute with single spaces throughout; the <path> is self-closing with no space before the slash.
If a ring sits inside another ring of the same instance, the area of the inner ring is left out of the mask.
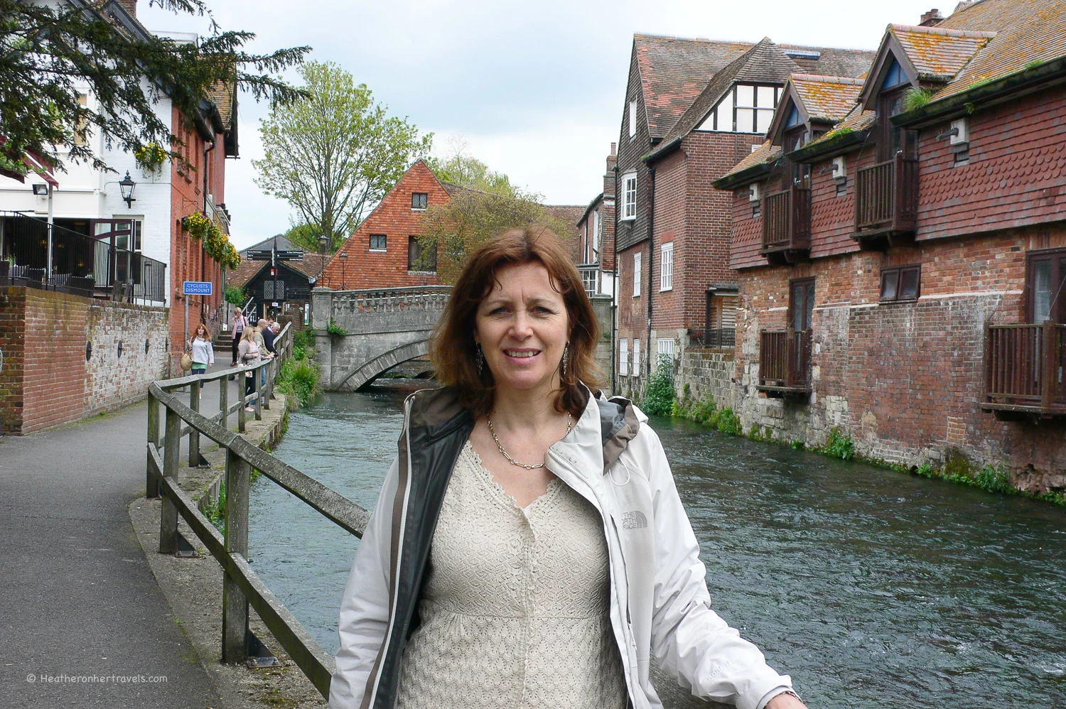
<path id="1" fill-rule="evenodd" d="M 708 80 L 753 46 L 750 42 L 634 34 L 633 47 L 651 138 L 665 135 Z"/>

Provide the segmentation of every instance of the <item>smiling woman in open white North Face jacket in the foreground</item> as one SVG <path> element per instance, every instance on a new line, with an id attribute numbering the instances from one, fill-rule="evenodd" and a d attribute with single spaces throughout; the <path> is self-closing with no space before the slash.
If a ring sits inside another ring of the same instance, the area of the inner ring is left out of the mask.
<path id="1" fill-rule="evenodd" d="M 473 253 L 408 397 L 340 609 L 333 709 L 796 709 L 710 607 L 699 546 L 639 409 L 589 389 L 599 328 L 543 227 Z"/>

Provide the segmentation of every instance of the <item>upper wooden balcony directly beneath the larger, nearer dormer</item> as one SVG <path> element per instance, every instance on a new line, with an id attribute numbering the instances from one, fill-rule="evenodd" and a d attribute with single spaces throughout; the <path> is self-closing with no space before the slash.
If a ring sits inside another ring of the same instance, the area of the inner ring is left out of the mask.
<path id="1" fill-rule="evenodd" d="M 918 159 L 898 154 L 855 175 L 855 235 L 862 248 L 907 243 L 918 226 Z"/>

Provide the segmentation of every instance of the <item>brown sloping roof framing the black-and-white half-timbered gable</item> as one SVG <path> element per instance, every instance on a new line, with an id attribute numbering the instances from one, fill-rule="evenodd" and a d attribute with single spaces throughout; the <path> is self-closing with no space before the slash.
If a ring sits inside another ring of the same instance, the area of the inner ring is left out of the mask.
<path id="1" fill-rule="evenodd" d="M 775 45 L 770 37 L 763 37 L 711 77 L 663 138 L 660 147 L 651 152 L 651 157 L 669 150 L 677 140 L 684 138 L 700 125 L 734 83 L 784 84 L 790 75 L 803 71 L 797 63 L 800 61 L 808 66 L 824 63 L 826 66 L 854 71 L 853 76 L 858 76 L 870 68 L 872 58 L 873 52 L 869 51 Z"/>

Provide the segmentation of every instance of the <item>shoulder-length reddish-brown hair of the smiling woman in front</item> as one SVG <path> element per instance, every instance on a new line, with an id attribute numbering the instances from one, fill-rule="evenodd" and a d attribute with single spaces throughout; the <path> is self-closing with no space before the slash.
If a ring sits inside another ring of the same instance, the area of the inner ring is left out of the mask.
<path id="1" fill-rule="evenodd" d="M 569 355 L 566 375 L 560 374 L 554 407 L 577 418 L 587 403 L 582 384 L 595 389 L 601 381 L 595 356 L 599 322 L 574 260 L 560 238 L 544 226 L 510 229 L 470 255 L 433 332 L 430 358 L 437 378 L 458 390 L 464 406 L 475 416 L 489 412 L 496 382 L 488 367 L 478 374 L 478 345 L 473 340 L 478 307 L 496 286 L 500 268 L 521 263 L 544 265 L 552 286 L 563 295 L 570 328 Z"/>

